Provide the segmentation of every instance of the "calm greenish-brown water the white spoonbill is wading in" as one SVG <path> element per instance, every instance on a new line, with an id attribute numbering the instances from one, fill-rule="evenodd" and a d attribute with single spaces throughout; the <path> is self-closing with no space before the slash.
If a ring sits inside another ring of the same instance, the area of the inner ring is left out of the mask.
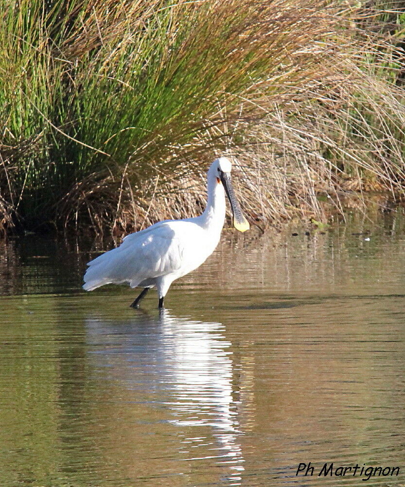
<path id="1" fill-rule="evenodd" d="M 0 244 L 0 485 L 404 486 L 403 217 L 348 219 L 225 237 L 161 314 L 82 292 L 74 244 Z"/>

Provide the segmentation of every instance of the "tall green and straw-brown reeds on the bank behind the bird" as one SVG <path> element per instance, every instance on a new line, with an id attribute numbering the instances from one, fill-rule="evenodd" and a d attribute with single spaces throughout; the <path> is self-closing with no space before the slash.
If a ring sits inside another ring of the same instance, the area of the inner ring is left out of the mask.
<path id="1" fill-rule="evenodd" d="M 386 73 L 402 64 L 370 15 L 320 0 L 3 3 L 1 228 L 196 214 L 224 152 L 259 225 L 321 215 L 319 191 L 339 206 L 341 174 L 397 191 L 405 112 Z"/>

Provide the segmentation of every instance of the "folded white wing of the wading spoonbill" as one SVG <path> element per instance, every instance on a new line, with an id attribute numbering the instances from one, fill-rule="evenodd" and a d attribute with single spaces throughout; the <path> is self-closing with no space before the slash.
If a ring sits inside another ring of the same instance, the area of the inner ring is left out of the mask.
<path id="1" fill-rule="evenodd" d="M 85 289 L 107 283 L 129 282 L 136 287 L 145 279 L 176 272 L 181 266 L 182 239 L 168 222 L 128 235 L 123 243 L 88 262 Z"/>

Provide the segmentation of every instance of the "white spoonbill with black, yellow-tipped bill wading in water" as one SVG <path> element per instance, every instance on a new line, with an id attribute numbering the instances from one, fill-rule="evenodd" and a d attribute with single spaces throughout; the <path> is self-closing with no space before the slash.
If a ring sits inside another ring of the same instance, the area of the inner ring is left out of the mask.
<path id="1" fill-rule="evenodd" d="M 156 287 L 162 309 L 172 282 L 199 267 L 218 245 L 225 222 L 225 194 L 234 227 L 241 232 L 249 229 L 232 187 L 231 169 L 228 158 L 215 159 L 208 170 L 207 206 L 201 215 L 164 220 L 127 235 L 121 245 L 88 262 L 83 289 L 125 282 L 131 288 L 143 287 L 131 304 L 138 308 L 148 290 Z"/>

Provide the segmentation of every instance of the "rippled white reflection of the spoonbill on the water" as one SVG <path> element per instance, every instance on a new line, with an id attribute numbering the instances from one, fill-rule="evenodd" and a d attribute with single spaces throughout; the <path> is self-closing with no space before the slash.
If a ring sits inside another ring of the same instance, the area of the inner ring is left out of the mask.
<path id="1" fill-rule="evenodd" d="M 239 485 L 242 432 L 224 326 L 176 318 L 162 310 L 158 316 L 140 313 L 127 320 L 88 319 L 87 329 L 90 344 L 98 348 L 97 361 L 108 366 L 114 380 L 135 388 L 140 402 L 150 403 L 152 392 L 153 402 L 169 408 L 165 422 L 181 430 L 176 447 L 180 461 L 221 465 L 223 480 Z M 147 414 L 145 410 L 144 421 L 150 420 Z"/>

